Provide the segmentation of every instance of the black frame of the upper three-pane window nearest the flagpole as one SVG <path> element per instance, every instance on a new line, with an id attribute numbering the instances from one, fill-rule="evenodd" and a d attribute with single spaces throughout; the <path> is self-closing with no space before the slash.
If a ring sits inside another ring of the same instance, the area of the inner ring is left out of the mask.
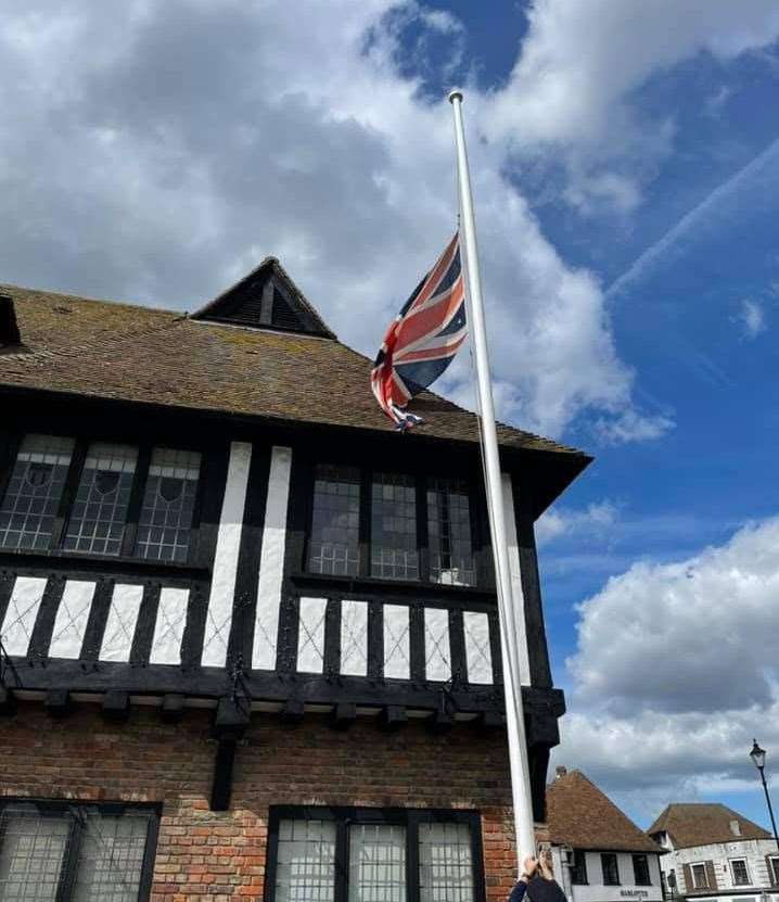
<path id="1" fill-rule="evenodd" d="M 435 587 L 444 592 L 451 589 L 491 590 L 495 588 L 495 580 L 491 568 L 491 546 L 489 541 L 489 528 L 486 521 L 486 500 L 480 492 L 480 483 L 471 473 L 463 474 L 463 469 L 455 470 L 447 466 L 433 466 L 422 463 L 419 467 L 403 466 L 397 460 L 376 459 L 371 466 L 363 462 L 365 458 L 354 457 L 340 458 L 332 453 L 322 453 L 321 456 L 307 457 L 301 461 L 303 497 L 305 498 L 304 513 L 304 536 L 302 543 L 302 555 L 298 561 L 299 573 L 305 576 L 312 576 L 322 580 L 368 580 L 382 585 L 396 586 L 425 586 Z M 360 475 L 359 491 L 359 520 L 358 520 L 358 566 L 356 576 L 341 576 L 329 573 L 317 573 L 309 568 L 308 558 L 311 545 L 311 532 L 314 525 L 314 486 L 316 481 L 317 466 L 353 467 L 357 468 Z M 372 524 L 372 486 L 374 473 L 388 473 L 409 477 L 416 486 L 416 510 L 417 510 L 417 555 L 419 561 L 419 575 L 411 580 L 396 580 L 392 577 L 375 576 L 371 573 L 371 524 Z M 469 586 L 451 586 L 446 583 L 437 583 L 431 580 L 430 568 L 430 541 L 427 535 L 427 487 L 433 479 L 457 479 L 465 484 L 469 499 L 469 516 L 471 526 L 471 548 L 473 552 L 474 583 Z"/>

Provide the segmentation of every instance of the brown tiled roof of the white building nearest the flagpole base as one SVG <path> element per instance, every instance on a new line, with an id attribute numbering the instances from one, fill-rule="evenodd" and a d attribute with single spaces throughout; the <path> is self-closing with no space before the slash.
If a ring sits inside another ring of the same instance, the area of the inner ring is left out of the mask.
<path id="1" fill-rule="evenodd" d="M 573 849 L 662 851 L 580 771 L 570 771 L 547 787 L 547 821 L 551 841 Z"/>

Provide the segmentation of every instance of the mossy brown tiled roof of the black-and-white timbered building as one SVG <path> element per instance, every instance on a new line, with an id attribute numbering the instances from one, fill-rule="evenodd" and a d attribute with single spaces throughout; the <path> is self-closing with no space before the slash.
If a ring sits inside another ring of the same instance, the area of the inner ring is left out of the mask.
<path id="1" fill-rule="evenodd" d="M 0 293 L 13 298 L 23 342 L 0 348 L 0 386 L 392 430 L 370 393 L 370 361 L 335 339 L 12 285 Z M 425 419 L 419 434 L 478 440 L 474 415 L 432 392 L 413 409 Z M 589 461 L 519 429 L 500 425 L 498 437 L 507 447 L 553 452 L 576 472 Z"/>

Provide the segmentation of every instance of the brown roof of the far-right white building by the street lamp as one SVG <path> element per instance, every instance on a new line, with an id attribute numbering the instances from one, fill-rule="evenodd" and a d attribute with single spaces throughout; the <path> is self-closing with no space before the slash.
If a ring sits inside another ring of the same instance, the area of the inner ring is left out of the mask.
<path id="1" fill-rule="evenodd" d="M 739 835 L 730 828 L 738 821 Z M 714 802 L 669 804 L 647 830 L 667 833 L 675 849 L 707 846 L 713 842 L 738 842 L 739 839 L 770 839 L 771 835 L 727 805 Z"/>

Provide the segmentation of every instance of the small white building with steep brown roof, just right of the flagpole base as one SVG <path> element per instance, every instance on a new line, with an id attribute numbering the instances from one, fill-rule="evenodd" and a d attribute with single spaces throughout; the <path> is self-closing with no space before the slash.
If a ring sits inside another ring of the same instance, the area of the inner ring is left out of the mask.
<path id="1" fill-rule="evenodd" d="M 660 847 L 580 771 L 547 787 L 554 873 L 570 902 L 663 899 Z"/>

